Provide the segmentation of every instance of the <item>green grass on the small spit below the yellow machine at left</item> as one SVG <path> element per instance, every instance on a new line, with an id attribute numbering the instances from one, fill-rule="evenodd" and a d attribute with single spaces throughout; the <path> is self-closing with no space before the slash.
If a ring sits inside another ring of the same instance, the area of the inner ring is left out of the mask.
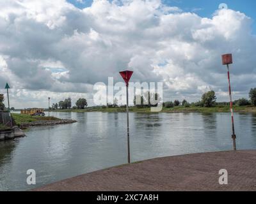
<path id="1" fill-rule="evenodd" d="M 19 113 L 12 113 L 12 117 L 17 126 L 23 123 L 35 122 L 35 121 L 52 121 L 52 120 L 60 120 L 56 117 L 42 117 L 42 116 L 31 116 Z"/>

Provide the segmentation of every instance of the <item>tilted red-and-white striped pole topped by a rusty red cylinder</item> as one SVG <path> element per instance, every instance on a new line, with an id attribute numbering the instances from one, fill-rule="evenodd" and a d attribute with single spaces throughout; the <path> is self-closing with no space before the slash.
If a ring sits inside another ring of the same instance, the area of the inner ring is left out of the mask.
<path id="1" fill-rule="evenodd" d="M 230 73 L 228 64 L 232 64 L 232 54 L 222 55 L 222 64 L 227 64 L 228 69 L 228 91 L 229 91 L 229 99 L 230 99 L 230 113 L 232 120 L 232 139 L 233 139 L 233 147 L 236 150 L 236 134 L 235 134 L 235 124 L 234 124 L 234 111 L 233 111 L 233 102 L 232 102 L 232 94 L 231 94 L 231 85 L 230 85 Z"/>

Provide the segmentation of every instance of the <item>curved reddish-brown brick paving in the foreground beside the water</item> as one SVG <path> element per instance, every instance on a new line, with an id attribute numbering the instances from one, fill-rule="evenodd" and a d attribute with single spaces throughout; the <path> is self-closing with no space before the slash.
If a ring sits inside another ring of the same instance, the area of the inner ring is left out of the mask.
<path id="1" fill-rule="evenodd" d="M 219 171 L 228 171 L 220 185 Z M 161 157 L 86 173 L 32 191 L 256 191 L 256 150 Z"/>

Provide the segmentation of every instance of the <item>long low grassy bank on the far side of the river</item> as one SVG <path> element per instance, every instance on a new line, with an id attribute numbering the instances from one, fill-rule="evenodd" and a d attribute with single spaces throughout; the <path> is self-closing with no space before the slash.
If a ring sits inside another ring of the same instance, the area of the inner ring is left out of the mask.
<path id="1" fill-rule="evenodd" d="M 125 112 L 126 108 L 102 108 L 102 107 L 88 107 L 85 109 L 68 109 L 68 110 L 54 110 L 54 112 Z M 150 113 L 150 108 L 136 108 L 129 107 L 130 112 Z M 234 106 L 235 112 L 252 112 L 256 113 L 256 107 L 253 106 Z M 197 106 L 175 106 L 173 108 L 165 108 L 161 111 L 163 113 L 186 113 L 186 112 L 202 112 L 202 113 L 227 113 L 230 112 L 229 106 L 214 106 L 211 108 L 197 107 Z"/>

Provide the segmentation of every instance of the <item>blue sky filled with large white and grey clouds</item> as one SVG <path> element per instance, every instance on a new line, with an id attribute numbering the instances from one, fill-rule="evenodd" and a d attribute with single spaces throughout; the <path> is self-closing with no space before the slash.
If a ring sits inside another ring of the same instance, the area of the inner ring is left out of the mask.
<path id="1" fill-rule="evenodd" d="M 256 3 L 191 0 L 0 0 L 0 92 L 11 106 L 71 97 L 93 105 L 93 85 L 164 82 L 164 100 L 228 101 L 221 54 L 232 53 L 234 98 L 256 87 Z M 74 105 L 74 104 L 73 104 Z"/>

